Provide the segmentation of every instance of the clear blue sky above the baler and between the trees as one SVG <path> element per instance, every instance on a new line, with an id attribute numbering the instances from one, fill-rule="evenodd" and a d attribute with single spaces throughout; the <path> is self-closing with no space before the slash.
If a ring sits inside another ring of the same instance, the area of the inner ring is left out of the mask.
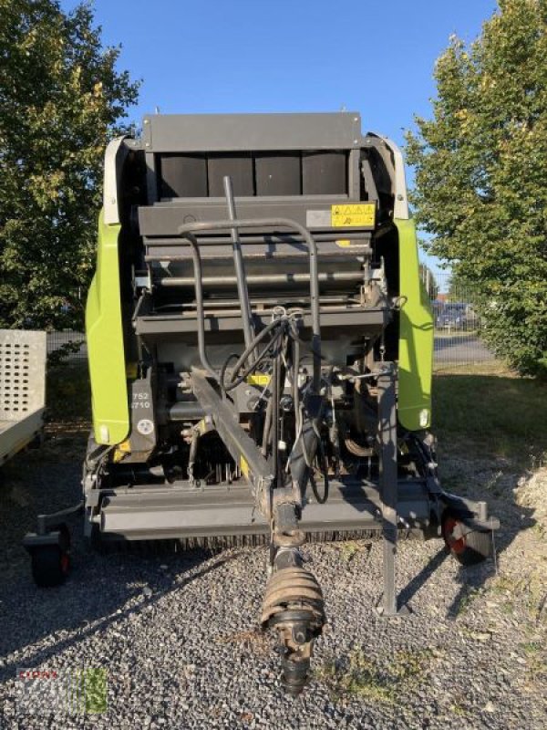
<path id="1" fill-rule="evenodd" d="M 77 5 L 62 0 L 65 10 Z M 359 111 L 403 143 L 430 116 L 435 59 L 471 41 L 495 0 L 96 0 L 146 113 Z M 409 182 L 412 175 L 409 175 Z M 438 262 L 422 255 L 434 271 Z"/>

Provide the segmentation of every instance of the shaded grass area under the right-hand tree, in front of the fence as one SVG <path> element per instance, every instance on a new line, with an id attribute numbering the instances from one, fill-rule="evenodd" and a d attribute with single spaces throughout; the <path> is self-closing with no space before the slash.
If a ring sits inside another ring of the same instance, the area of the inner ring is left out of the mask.
<path id="1" fill-rule="evenodd" d="M 547 384 L 516 377 L 496 363 L 488 365 L 498 370 L 436 373 L 433 431 L 439 453 L 542 464 L 547 455 Z"/>

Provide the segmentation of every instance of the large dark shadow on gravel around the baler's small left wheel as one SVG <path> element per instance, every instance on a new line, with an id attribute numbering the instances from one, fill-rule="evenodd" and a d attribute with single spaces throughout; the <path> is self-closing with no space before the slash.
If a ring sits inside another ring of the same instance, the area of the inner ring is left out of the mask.
<path id="1" fill-rule="evenodd" d="M 74 559 L 67 583 L 37 589 L 22 540 L 36 528 L 37 514 L 77 501 L 85 437 L 50 435 L 42 449 L 18 454 L 1 470 L 0 683 L 14 679 L 17 667 L 47 662 L 236 557 L 203 549 L 100 555 L 86 544 L 76 516 L 68 520 Z"/>

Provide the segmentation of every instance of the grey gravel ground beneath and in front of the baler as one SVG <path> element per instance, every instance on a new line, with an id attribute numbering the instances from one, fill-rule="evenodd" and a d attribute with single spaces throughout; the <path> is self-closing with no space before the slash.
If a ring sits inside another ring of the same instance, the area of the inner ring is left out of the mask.
<path id="1" fill-rule="evenodd" d="M 74 569 L 38 590 L 20 547 L 36 511 L 77 497 L 82 434 L 5 467 L 0 488 L 0 728 L 489 728 L 547 726 L 547 541 L 530 479 L 510 464 L 444 464 L 447 485 L 489 499 L 498 560 L 459 568 L 441 543 L 400 543 L 397 583 L 412 613 L 381 620 L 377 541 L 305 549 L 328 627 L 315 678 L 285 696 L 256 630 L 263 548 L 140 557 L 88 551 L 73 521 Z M 545 474 L 543 474 L 545 476 Z M 543 485 L 547 484 L 547 478 Z M 525 495 L 517 505 L 513 489 Z M 531 496 L 532 494 L 532 496 Z M 16 670 L 108 669 L 106 714 L 24 715 Z"/>

